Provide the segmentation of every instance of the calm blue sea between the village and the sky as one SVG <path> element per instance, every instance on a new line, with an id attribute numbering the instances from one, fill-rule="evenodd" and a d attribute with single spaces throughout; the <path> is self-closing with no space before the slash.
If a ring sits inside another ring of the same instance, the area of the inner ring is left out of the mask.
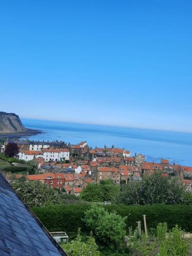
<path id="1" fill-rule="evenodd" d="M 70 144 L 87 141 L 92 148 L 114 145 L 129 150 L 132 156 L 141 153 L 146 161 L 160 162 L 161 158 L 166 158 L 170 163 L 192 166 L 191 133 L 34 119 L 22 119 L 22 122 L 27 128 L 42 131 L 23 139 L 58 140 Z"/>

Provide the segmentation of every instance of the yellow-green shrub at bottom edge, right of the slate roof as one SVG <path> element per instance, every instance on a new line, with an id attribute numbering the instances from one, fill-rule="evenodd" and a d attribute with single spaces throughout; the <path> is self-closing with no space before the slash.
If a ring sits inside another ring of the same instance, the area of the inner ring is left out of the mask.
<path id="1" fill-rule="evenodd" d="M 82 236 L 80 235 L 80 229 L 78 229 L 78 235 L 75 240 L 71 243 L 61 245 L 62 248 L 67 252 L 69 256 L 99 256 L 98 246 L 95 243 L 95 239 L 92 233 L 87 237 L 87 241 L 82 241 Z"/>

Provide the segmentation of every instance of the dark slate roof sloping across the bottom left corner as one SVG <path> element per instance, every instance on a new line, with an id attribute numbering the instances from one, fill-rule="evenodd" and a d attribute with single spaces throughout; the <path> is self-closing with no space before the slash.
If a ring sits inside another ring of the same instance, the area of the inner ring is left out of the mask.
<path id="1" fill-rule="evenodd" d="M 0 255 L 67 255 L 0 174 Z"/>

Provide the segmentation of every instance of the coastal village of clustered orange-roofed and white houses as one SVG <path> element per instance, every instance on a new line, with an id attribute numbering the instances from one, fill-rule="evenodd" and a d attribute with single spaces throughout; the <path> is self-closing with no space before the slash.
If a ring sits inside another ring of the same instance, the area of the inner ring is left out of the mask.
<path id="1" fill-rule="evenodd" d="M 89 183 L 112 180 L 116 185 L 141 180 L 143 174 L 160 170 L 163 176 L 176 176 L 191 191 L 192 167 L 170 164 L 167 159 L 146 162 L 142 154 L 131 154 L 125 148 L 115 146 L 89 147 L 86 141 L 78 144 L 7 139 L 1 146 L 1 153 L 9 142 L 19 147 L 16 158 L 32 161 L 35 174 L 7 174 L 9 181 L 21 178 L 39 181 L 51 188 L 63 189 L 68 195 L 79 196 L 82 188 Z"/>

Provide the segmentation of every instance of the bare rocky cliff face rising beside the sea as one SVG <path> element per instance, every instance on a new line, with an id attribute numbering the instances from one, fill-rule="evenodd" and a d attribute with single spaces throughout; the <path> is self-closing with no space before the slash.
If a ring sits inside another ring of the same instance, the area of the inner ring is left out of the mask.
<path id="1" fill-rule="evenodd" d="M 0 133 L 16 133 L 26 131 L 19 116 L 13 113 L 0 112 Z"/>

